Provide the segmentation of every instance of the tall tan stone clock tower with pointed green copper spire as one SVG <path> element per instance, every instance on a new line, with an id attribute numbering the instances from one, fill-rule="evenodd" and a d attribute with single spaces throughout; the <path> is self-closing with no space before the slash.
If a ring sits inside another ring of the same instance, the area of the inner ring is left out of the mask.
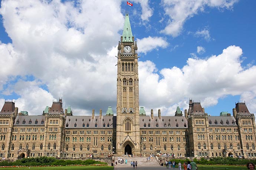
<path id="1" fill-rule="evenodd" d="M 140 113 L 137 44 L 132 36 L 129 15 L 118 44 L 116 153 L 140 154 Z"/>

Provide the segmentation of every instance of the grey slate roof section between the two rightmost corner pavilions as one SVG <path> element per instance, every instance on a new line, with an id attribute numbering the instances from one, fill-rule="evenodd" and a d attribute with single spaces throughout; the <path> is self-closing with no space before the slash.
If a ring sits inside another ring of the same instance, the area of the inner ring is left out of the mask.
<path id="1" fill-rule="evenodd" d="M 221 124 L 221 121 L 223 124 Z M 234 116 L 209 116 L 208 122 L 209 126 L 237 126 Z"/>

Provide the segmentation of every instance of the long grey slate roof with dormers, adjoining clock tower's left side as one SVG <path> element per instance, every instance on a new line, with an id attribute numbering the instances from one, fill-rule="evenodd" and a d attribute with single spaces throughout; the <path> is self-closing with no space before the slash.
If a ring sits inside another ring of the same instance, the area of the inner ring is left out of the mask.
<path id="1" fill-rule="evenodd" d="M 85 124 L 85 127 L 83 127 L 83 123 Z M 89 127 L 86 126 L 87 123 L 89 124 Z M 97 123 L 97 127 L 95 127 L 96 123 Z M 103 127 L 104 123 L 106 125 L 105 127 Z M 108 123 L 109 123 L 109 127 L 107 127 Z M 76 127 L 75 127 L 75 124 L 76 124 Z M 92 119 L 92 116 L 67 116 L 66 122 L 65 122 L 65 128 L 85 128 L 85 129 L 116 128 L 116 116 L 102 116 L 101 119 L 99 119 L 99 116 L 94 116 L 94 119 Z"/>

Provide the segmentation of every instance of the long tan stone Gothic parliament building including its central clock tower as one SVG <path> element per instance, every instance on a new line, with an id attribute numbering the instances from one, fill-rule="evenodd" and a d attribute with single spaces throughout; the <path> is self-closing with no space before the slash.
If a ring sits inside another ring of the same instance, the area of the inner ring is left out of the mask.
<path id="1" fill-rule="evenodd" d="M 75 116 L 62 99 L 38 116 L 5 101 L 0 112 L 0 157 L 85 158 L 89 155 L 175 154 L 175 157 L 256 157 L 255 116 L 245 102 L 233 115 L 208 115 L 200 102 L 189 99 L 188 109 L 175 116 L 161 110 L 146 115 L 139 105 L 137 43 L 128 14 L 118 43 L 116 115 L 112 108 Z"/>

